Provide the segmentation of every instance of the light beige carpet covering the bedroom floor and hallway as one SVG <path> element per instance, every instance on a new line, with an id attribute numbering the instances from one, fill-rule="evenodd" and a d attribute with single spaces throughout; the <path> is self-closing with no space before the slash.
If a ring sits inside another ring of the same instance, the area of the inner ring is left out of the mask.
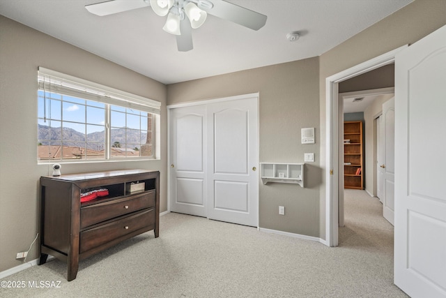
<path id="1" fill-rule="evenodd" d="M 74 281 L 53 260 L 3 278 L 26 287 L 0 288 L 0 297 L 407 297 L 393 285 L 393 227 L 378 199 L 346 190 L 345 205 L 336 248 L 170 213 L 160 237 L 147 232 L 93 255 Z"/>

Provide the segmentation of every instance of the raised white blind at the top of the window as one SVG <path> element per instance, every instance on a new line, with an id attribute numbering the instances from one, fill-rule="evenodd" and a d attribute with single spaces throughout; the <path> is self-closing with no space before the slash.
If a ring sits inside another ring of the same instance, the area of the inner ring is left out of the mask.
<path id="1" fill-rule="evenodd" d="M 125 91 L 89 82 L 54 70 L 38 68 L 38 89 L 111 105 L 119 105 L 152 114 L 160 114 L 161 103 Z"/>

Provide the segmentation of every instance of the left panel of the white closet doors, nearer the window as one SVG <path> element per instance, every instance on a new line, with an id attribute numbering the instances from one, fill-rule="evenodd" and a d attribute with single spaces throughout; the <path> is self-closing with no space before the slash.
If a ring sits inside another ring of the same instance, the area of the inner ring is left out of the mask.
<path id="1" fill-rule="evenodd" d="M 206 106 L 170 110 L 170 209 L 206 216 Z"/>

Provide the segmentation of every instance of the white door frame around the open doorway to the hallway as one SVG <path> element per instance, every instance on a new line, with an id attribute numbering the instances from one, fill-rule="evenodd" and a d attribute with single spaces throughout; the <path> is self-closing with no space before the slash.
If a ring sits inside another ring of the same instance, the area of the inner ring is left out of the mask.
<path id="1" fill-rule="evenodd" d="M 325 78 L 325 245 L 339 243 L 339 82 L 392 64 L 403 45 L 361 64 Z M 341 115 L 342 117 L 342 115 Z"/>

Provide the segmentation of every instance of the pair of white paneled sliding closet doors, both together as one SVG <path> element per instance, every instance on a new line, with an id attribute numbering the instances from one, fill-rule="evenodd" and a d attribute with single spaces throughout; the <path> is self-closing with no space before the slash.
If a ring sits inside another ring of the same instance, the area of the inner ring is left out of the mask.
<path id="1" fill-rule="evenodd" d="M 170 110 L 171 211 L 258 226 L 257 95 Z"/>

